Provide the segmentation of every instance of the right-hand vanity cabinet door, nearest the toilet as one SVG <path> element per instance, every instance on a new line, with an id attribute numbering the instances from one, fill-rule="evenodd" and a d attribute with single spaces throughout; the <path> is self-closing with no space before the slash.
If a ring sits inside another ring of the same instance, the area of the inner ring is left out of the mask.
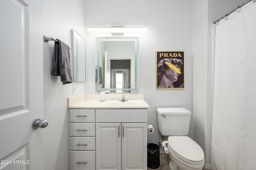
<path id="1" fill-rule="evenodd" d="M 147 169 L 147 124 L 122 123 L 122 170 Z"/>

